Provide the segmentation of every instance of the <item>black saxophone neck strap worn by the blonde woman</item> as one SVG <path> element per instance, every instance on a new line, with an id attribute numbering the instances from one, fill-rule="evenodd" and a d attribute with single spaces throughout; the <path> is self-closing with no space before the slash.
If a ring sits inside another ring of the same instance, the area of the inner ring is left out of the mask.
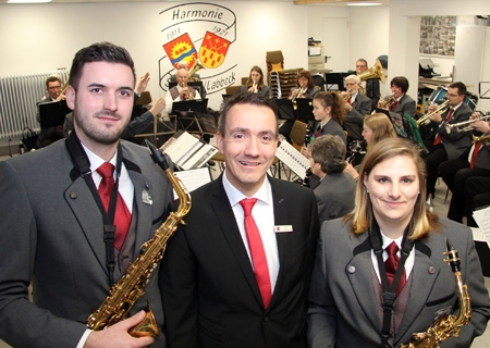
<path id="1" fill-rule="evenodd" d="M 369 231 L 369 238 L 371 239 L 372 250 L 375 252 L 376 259 L 378 260 L 378 271 L 379 276 L 381 278 L 381 285 L 383 288 L 383 326 L 381 330 L 381 337 L 383 340 L 382 347 L 391 348 L 392 345 L 389 343 L 391 333 L 391 316 L 393 314 L 394 301 L 396 298 L 396 289 L 400 284 L 400 279 L 402 278 L 403 270 L 405 268 L 406 259 L 408 258 L 411 250 L 414 246 L 414 243 L 407 238 L 409 231 L 412 229 L 412 222 L 405 227 L 405 232 L 403 233 L 402 239 L 402 257 L 400 258 L 399 266 L 396 268 L 396 272 L 394 274 L 393 283 L 391 286 L 388 285 L 388 275 L 387 269 L 384 266 L 383 260 L 383 248 L 382 248 L 382 237 L 381 232 L 379 229 L 378 222 L 373 219 L 371 228 Z"/>

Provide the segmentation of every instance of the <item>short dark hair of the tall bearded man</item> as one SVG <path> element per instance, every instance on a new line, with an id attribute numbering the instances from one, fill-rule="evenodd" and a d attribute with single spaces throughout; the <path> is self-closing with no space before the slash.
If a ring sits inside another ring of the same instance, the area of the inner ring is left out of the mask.
<path id="1" fill-rule="evenodd" d="M 82 70 L 85 63 L 90 62 L 108 62 L 127 65 L 131 67 L 134 83 L 136 83 L 134 62 L 130 52 L 127 52 L 125 48 L 111 42 L 97 42 L 81 49 L 76 52 L 75 58 L 73 58 L 69 83 L 75 90 L 78 88 Z"/>

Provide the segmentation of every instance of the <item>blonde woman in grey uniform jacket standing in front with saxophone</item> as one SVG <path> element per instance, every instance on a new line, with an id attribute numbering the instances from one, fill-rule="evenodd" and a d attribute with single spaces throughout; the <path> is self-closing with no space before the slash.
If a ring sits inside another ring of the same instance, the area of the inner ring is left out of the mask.
<path id="1" fill-rule="evenodd" d="M 308 347 L 400 347 L 460 310 L 471 312 L 469 323 L 441 346 L 469 347 L 490 318 L 488 290 L 469 228 L 426 209 L 419 148 L 383 139 L 366 154 L 360 177 L 354 211 L 321 225 Z M 470 309 L 460 307 L 456 271 L 444 262 L 448 241 L 458 251 Z M 450 334 L 460 330 L 448 324 Z"/>

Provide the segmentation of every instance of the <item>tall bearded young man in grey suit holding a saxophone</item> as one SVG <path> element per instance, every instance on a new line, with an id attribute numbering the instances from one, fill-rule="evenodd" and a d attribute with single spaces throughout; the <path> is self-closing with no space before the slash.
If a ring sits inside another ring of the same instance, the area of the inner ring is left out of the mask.
<path id="1" fill-rule="evenodd" d="M 148 151 L 120 140 L 134 86 L 125 49 L 101 42 L 79 50 L 66 89 L 74 132 L 46 149 L 0 162 L 0 204 L 9 207 L 0 220 L 0 338 L 11 346 L 150 346 L 152 337 L 127 333 L 143 320 L 147 300 L 162 330 L 158 269 L 128 319 L 102 331 L 86 326 L 164 221 L 171 199 L 172 187 Z M 98 170 L 111 164 L 115 173 L 102 178 Z M 111 178 L 119 190 L 108 192 L 106 204 L 97 186 Z M 155 347 L 164 347 L 164 339 Z"/>

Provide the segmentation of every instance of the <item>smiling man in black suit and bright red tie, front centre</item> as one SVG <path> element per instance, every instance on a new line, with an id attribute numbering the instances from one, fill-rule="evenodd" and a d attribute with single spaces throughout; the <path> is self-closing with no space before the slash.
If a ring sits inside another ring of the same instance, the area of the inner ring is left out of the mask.
<path id="1" fill-rule="evenodd" d="M 228 99 L 217 145 L 225 171 L 193 191 L 185 225 L 163 257 L 169 346 L 306 347 L 319 222 L 311 190 L 267 175 L 278 145 L 273 101 L 258 94 Z M 242 204 L 250 201 L 248 214 Z"/>

